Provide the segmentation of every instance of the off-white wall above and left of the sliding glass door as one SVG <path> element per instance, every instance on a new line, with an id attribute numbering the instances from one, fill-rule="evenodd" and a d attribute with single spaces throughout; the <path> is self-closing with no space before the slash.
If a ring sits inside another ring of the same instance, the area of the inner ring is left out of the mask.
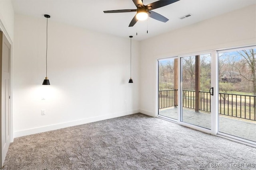
<path id="1" fill-rule="evenodd" d="M 140 112 L 156 116 L 156 61 L 186 53 L 256 45 L 256 6 L 141 41 Z"/>

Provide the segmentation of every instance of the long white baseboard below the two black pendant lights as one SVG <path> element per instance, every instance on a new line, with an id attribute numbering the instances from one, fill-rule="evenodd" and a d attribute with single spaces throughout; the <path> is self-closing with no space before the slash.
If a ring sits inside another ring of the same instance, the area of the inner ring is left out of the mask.
<path id="1" fill-rule="evenodd" d="M 95 121 L 112 119 L 112 118 L 115 118 L 115 117 L 132 115 L 134 113 L 139 113 L 139 112 L 140 112 L 139 109 L 135 109 L 135 110 L 124 111 L 124 112 L 119 112 L 119 113 L 112 113 L 112 114 L 100 115 L 100 116 L 96 116 L 96 117 L 89 117 L 89 118 L 86 118 L 86 119 L 80 119 L 80 120 L 70 121 L 70 122 L 65 122 L 65 123 L 58 123 L 58 124 L 48 125 L 48 126 L 44 126 L 44 127 L 36 127 L 36 128 L 33 128 L 33 129 L 26 129 L 26 130 L 22 130 L 22 131 L 16 131 L 16 132 L 14 132 L 14 138 L 22 137 L 22 136 L 26 136 L 26 135 L 33 135 L 33 134 L 36 134 L 36 133 L 42 133 L 42 132 L 47 132 L 47 131 L 53 131 L 53 130 L 62 129 L 62 128 L 65 128 L 65 127 L 82 125 L 82 124 L 91 123 L 91 122 L 95 122 Z"/>

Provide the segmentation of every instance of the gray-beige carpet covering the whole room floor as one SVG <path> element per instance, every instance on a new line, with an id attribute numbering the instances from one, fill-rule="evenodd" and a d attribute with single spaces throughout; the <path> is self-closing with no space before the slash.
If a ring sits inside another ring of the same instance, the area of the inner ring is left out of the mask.
<path id="1" fill-rule="evenodd" d="M 140 113 L 16 138 L 4 162 L 4 170 L 198 170 L 211 166 L 256 169 L 256 148 Z"/>

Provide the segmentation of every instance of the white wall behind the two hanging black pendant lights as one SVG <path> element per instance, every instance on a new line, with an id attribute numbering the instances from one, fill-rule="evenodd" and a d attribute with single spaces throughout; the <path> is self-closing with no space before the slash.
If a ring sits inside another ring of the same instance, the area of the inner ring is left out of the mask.
<path id="1" fill-rule="evenodd" d="M 13 60 L 14 137 L 98 121 L 139 111 L 139 43 L 15 15 Z M 41 100 L 45 98 L 45 100 Z M 124 100 L 127 101 L 125 104 Z M 46 115 L 41 115 L 46 109 Z"/>

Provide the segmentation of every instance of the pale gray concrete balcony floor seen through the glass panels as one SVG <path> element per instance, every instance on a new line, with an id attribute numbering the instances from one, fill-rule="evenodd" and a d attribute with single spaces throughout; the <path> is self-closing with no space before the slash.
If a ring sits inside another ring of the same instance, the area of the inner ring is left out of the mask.
<path id="1" fill-rule="evenodd" d="M 183 122 L 211 129 L 210 113 L 195 112 L 186 108 L 183 108 L 182 111 Z M 178 120 L 178 108 L 160 109 L 159 115 Z M 219 132 L 256 142 L 256 121 L 219 115 Z"/>

